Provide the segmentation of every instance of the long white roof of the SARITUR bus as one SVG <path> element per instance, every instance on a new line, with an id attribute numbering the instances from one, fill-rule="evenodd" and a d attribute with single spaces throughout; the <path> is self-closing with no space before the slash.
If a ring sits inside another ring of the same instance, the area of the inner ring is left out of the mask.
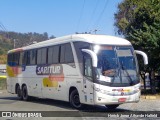
<path id="1" fill-rule="evenodd" d="M 13 49 L 13 50 L 10 50 L 9 53 L 14 51 L 46 47 L 46 46 L 63 44 L 67 42 L 75 42 L 75 41 L 83 41 L 83 42 L 88 42 L 93 44 L 103 44 L 103 45 L 131 45 L 131 43 L 128 40 L 119 38 L 119 37 L 114 37 L 114 36 L 93 35 L 93 34 L 73 34 L 73 35 L 46 40 L 46 41 L 25 46 L 22 48 Z"/>

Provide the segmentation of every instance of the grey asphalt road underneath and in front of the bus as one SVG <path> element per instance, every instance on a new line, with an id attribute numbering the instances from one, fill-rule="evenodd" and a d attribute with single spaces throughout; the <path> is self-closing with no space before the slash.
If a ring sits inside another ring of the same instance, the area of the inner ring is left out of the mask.
<path id="1" fill-rule="evenodd" d="M 7 93 L 7 91 L 0 90 L 0 111 L 17 111 L 25 113 L 27 111 L 37 112 L 37 111 L 47 111 L 48 115 L 55 117 L 43 117 L 43 118 L 25 118 L 25 119 L 47 119 L 47 120 L 103 120 L 103 119 L 160 119 L 155 116 L 144 117 L 140 116 L 139 118 L 134 116 L 128 116 L 131 112 L 136 112 L 135 115 L 144 113 L 143 115 L 148 114 L 147 111 L 152 111 L 150 114 L 153 115 L 160 111 L 160 99 L 156 100 L 146 100 L 141 99 L 138 103 L 126 103 L 120 105 L 116 110 L 108 110 L 105 106 L 86 106 L 84 110 L 75 110 L 71 108 L 70 104 L 67 102 L 50 100 L 50 99 L 33 99 L 32 101 L 21 101 L 17 98 L 16 95 Z M 142 112 L 143 111 L 143 112 Z M 157 112 L 155 112 L 157 111 Z M 57 114 L 58 113 L 58 114 Z M 160 113 L 160 112 L 159 112 Z M 1 113 L 2 114 L 2 113 Z M 44 112 L 42 112 L 43 116 Z M 121 116 L 124 115 L 123 117 Z M 149 115 L 150 115 L 149 114 Z M 27 113 L 28 115 L 28 113 Z M 77 117 L 78 116 L 78 117 Z M 110 117 L 109 117 L 110 116 Z M 18 117 L 14 118 L 0 118 L 4 120 L 17 120 L 22 119 Z M 24 118 L 23 118 L 24 119 Z"/>

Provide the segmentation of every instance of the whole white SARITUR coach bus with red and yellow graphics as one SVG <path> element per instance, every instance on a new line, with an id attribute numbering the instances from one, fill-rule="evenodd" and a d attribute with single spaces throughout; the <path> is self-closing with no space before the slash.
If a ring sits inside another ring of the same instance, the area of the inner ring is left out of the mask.
<path id="1" fill-rule="evenodd" d="M 116 108 L 140 100 L 136 53 L 125 39 L 75 34 L 8 52 L 7 90 L 20 99 L 31 96 Z"/>

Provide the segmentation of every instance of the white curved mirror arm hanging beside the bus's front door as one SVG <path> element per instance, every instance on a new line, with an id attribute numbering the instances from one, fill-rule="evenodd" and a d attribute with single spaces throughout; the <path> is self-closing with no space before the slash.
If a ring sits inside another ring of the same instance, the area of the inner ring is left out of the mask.
<path id="1" fill-rule="evenodd" d="M 97 67 L 97 61 L 98 61 L 98 59 L 97 59 L 96 53 L 94 53 L 93 51 L 88 50 L 88 49 L 82 49 L 82 51 L 85 52 L 85 53 L 87 53 L 87 54 L 89 54 L 91 56 L 91 58 L 92 58 L 92 66 L 93 67 Z"/>

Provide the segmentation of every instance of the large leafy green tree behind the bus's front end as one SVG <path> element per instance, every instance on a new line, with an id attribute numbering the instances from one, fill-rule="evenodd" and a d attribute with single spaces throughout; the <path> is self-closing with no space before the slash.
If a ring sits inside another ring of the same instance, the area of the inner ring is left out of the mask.
<path id="1" fill-rule="evenodd" d="M 124 0 L 118 5 L 115 26 L 135 49 L 147 53 L 147 70 L 160 70 L 160 0 Z"/>

